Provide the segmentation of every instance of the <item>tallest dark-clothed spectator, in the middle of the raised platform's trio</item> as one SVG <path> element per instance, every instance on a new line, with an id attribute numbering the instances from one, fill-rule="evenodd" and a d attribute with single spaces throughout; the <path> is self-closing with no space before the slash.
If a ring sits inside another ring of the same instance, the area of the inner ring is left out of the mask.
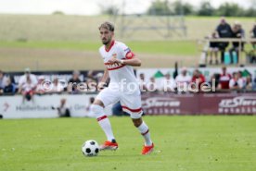
<path id="1" fill-rule="evenodd" d="M 216 28 L 216 32 L 218 33 L 220 38 L 230 38 L 232 35 L 232 30 L 230 25 L 225 21 L 225 18 L 221 18 L 220 24 Z M 224 52 L 225 48 L 228 46 L 228 42 L 218 43 L 219 49 L 221 51 L 221 62 L 224 63 Z"/>

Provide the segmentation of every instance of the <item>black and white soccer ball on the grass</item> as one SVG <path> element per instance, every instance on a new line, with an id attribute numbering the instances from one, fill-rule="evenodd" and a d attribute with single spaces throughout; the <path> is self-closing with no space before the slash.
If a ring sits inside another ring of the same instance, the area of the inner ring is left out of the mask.
<path id="1" fill-rule="evenodd" d="M 82 145 L 82 152 L 85 156 L 96 156 L 99 152 L 96 140 L 86 140 Z"/>

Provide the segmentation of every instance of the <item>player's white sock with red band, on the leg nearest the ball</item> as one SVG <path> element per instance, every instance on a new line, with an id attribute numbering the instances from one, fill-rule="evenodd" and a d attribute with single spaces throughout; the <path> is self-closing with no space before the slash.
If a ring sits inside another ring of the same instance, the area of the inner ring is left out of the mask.
<path id="1" fill-rule="evenodd" d="M 103 107 L 100 105 L 92 104 L 91 110 L 93 114 L 96 116 L 96 120 L 99 126 L 103 129 L 106 134 L 106 137 L 109 141 L 115 140 L 113 131 L 111 128 L 111 124 L 109 122 L 108 116 L 104 114 Z"/>

